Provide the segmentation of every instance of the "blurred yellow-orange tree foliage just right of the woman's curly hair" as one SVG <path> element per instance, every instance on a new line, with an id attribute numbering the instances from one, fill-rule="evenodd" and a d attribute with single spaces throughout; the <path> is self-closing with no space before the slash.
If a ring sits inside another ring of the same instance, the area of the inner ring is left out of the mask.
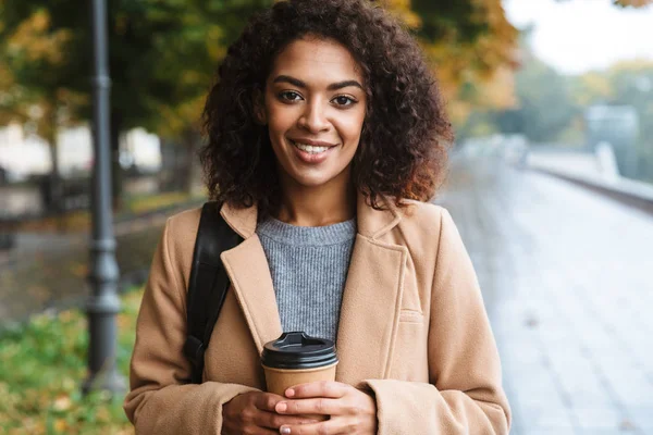
<path id="1" fill-rule="evenodd" d="M 433 64 L 460 125 L 472 108 L 506 108 L 514 103 L 517 29 L 500 0 L 415 0 L 420 18 L 417 35 Z"/>

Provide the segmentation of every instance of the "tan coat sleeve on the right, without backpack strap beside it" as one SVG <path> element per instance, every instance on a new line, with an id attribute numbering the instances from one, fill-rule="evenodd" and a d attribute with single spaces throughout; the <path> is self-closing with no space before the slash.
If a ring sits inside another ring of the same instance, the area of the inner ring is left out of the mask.
<path id="1" fill-rule="evenodd" d="M 430 383 L 366 381 L 379 434 L 508 434 L 496 344 L 471 260 L 444 209 L 428 346 Z"/>

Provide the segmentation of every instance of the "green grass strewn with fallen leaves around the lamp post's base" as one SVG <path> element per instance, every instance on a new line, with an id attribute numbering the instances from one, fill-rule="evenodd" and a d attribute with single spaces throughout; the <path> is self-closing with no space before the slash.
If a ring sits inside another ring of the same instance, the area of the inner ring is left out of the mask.
<path id="1" fill-rule="evenodd" d="M 118 366 L 127 377 L 143 290 L 122 299 Z M 0 433 L 133 434 L 123 397 L 86 397 L 88 333 L 77 309 L 40 314 L 0 332 Z"/>

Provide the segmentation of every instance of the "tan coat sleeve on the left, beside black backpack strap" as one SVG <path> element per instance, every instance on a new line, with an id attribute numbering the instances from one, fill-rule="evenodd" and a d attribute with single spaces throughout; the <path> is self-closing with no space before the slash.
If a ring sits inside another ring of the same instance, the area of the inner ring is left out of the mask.
<path id="1" fill-rule="evenodd" d="M 190 363 L 182 350 L 186 291 L 171 261 L 171 222 L 155 253 L 138 313 L 124 410 L 137 434 L 219 434 L 222 405 L 255 389 L 217 382 L 187 384 Z"/>

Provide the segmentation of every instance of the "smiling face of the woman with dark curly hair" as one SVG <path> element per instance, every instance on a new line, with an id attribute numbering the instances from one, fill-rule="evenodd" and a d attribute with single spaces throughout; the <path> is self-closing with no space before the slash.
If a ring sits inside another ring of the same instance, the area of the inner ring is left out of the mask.
<path id="1" fill-rule="evenodd" d="M 345 187 L 366 94 L 358 63 L 330 39 L 303 38 L 275 59 L 259 121 L 268 125 L 282 186 Z"/>

